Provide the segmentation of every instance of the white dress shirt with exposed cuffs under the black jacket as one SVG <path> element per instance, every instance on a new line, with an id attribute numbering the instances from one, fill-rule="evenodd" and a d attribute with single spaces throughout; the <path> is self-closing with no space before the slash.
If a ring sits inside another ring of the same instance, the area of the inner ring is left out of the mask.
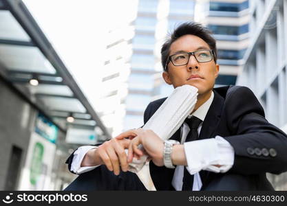
<path id="1" fill-rule="evenodd" d="M 209 107 L 213 102 L 214 94 L 211 93 L 209 100 L 204 102 L 194 113 L 189 115 L 191 118 L 193 115 L 198 117 L 204 122 Z M 198 134 L 202 128 L 202 123 L 198 127 Z M 200 170 L 208 170 L 211 172 L 227 172 L 234 162 L 234 149 L 231 144 L 228 143 L 224 138 L 216 136 L 210 139 L 200 139 L 195 141 L 184 142 L 189 133 L 189 126 L 184 123 L 181 127 L 181 144 L 184 145 L 184 152 L 187 157 L 187 171 L 190 174 L 194 174 L 193 191 L 198 191 L 202 187 L 202 181 L 200 179 Z M 96 148 L 95 146 L 82 146 L 74 152 L 74 157 L 71 165 L 71 170 L 76 174 L 88 172 L 93 170 L 97 166 L 81 167 L 81 162 L 85 157 L 88 150 Z M 222 165 L 217 168 L 214 165 Z M 184 165 L 177 165 L 176 171 L 173 174 L 172 185 L 180 191 L 182 190 L 182 179 L 184 174 Z"/>

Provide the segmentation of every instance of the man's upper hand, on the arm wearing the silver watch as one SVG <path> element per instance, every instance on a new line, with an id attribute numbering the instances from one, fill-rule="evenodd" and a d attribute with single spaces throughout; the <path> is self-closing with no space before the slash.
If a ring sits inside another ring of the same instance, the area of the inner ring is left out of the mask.
<path id="1" fill-rule="evenodd" d="M 135 137 L 136 135 L 136 137 Z M 148 155 L 152 159 L 153 163 L 158 166 L 164 165 L 163 163 L 163 148 L 164 141 L 153 133 L 152 130 L 144 130 L 138 128 L 136 130 L 128 130 L 125 133 L 122 133 L 116 138 L 129 137 L 131 140 L 129 144 L 129 152 L 127 155 L 127 161 L 130 163 L 134 156 Z M 138 149 L 138 146 L 142 144 L 145 149 L 144 152 Z M 147 154 L 145 154 L 145 152 Z"/>

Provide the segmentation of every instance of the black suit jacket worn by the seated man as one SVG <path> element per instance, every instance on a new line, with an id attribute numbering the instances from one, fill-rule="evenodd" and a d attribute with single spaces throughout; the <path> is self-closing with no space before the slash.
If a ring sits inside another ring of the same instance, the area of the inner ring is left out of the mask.
<path id="1" fill-rule="evenodd" d="M 272 190 L 266 172 L 279 174 L 287 170 L 287 136 L 268 123 L 264 110 L 247 87 L 229 86 L 213 89 L 214 99 L 202 124 L 199 139 L 220 135 L 235 150 L 235 161 L 227 174 L 250 177 L 254 190 Z M 156 112 L 167 98 L 151 102 L 144 122 Z M 171 137 L 180 140 L 180 129 Z M 206 151 L 209 152 L 209 151 Z M 173 190 L 174 169 L 149 163 L 151 179 L 157 190 Z M 214 179 L 226 173 L 200 172 L 202 190 Z"/>

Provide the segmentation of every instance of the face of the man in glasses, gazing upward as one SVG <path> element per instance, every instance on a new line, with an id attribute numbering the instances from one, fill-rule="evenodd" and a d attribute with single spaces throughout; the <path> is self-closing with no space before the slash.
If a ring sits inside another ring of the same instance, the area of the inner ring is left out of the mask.
<path id="1" fill-rule="evenodd" d="M 187 34 L 181 36 L 171 44 L 169 55 L 178 52 L 195 52 L 200 49 L 210 49 L 210 47 L 202 38 Z M 174 88 L 189 84 L 197 87 L 200 95 L 204 95 L 210 93 L 213 89 L 218 72 L 219 65 L 216 65 L 214 60 L 198 62 L 191 55 L 187 65 L 174 66 L 172 62 L 169 62 L 168 71 L 164 71 L 162 76 L 165 82 L 173 84 Z"/>

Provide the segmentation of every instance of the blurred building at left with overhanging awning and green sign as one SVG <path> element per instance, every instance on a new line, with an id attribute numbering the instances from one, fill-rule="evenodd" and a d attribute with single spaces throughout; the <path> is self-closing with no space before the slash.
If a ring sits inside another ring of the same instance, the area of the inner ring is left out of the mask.
<path id="1" fill-rule="evenodd" d="M 82 144 L 111 136 L 22 1 L 0 1 L 0 190 L 62 190 Z"/>

